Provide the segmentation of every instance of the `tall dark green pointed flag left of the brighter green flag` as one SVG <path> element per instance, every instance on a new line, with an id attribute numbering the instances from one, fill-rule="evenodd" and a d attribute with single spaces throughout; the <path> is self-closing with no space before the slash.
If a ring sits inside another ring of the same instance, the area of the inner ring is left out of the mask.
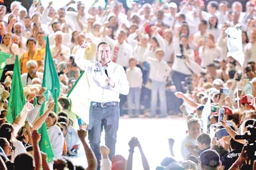
<path id="1" fill-rule="evenodd" d="M 19 58 L 16 56 L 6 116 L 9 123 L 12 123 L 18 117 L 25 103 L 26 99 L 21 81 L 21 68 L 19 66 Z"/>

